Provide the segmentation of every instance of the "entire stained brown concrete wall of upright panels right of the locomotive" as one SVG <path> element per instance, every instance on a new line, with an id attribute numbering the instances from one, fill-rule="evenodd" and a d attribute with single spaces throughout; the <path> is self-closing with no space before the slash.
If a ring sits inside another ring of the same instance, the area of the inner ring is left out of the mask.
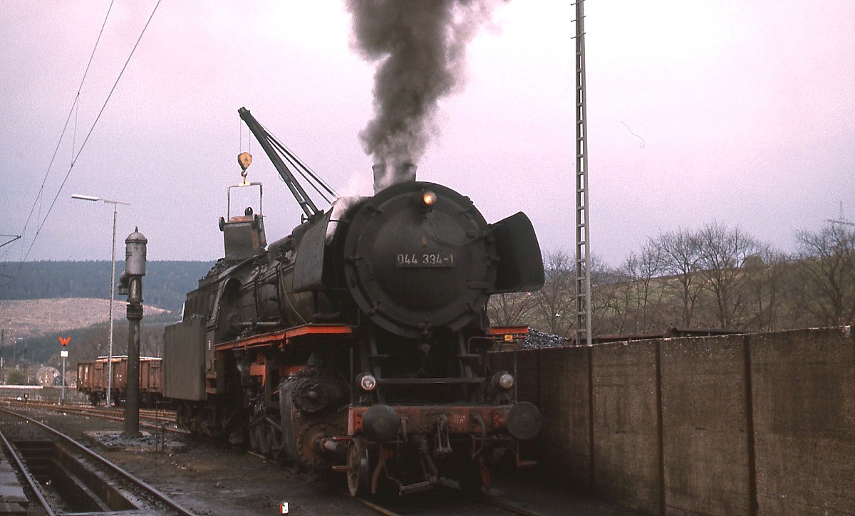
<path id="1" fill-rule="evenodd" d="M 513 353 L 493 354 L 510 368 Z M 848 326 L 520 351 L 529 445 L 574 489 L 650 513 L 855 514 Z"/>

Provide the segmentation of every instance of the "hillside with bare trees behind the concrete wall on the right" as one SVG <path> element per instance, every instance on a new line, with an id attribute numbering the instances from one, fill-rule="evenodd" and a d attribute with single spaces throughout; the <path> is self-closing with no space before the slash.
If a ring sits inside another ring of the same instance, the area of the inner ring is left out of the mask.
<path id="1" fill-rule="evenodd" d="M 788 255 L 718 223 L 650 237 L 618 267 L 594 259 L 592 334 L 721 328 L 775 331 L 855 322 L 855 226 L 833 223 L 794 234 Z M 497 325 L 531 325 L 575 336 L 576 267 L 545 255 L 546 284 L 528 294 L 493 296 Z"/>

